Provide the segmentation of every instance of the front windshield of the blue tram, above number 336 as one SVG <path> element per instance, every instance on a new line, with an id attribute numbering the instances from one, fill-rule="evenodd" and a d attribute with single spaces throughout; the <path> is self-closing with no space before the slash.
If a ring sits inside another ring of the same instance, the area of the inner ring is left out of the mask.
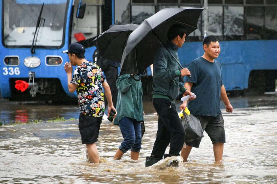
<path id="1" fill-rule="evenodd" d="M 42 4 L 44 6 L 42 9 Z M 2 6 L 2 43 L 31 47 L 38 17 L 36 47 L 59 47 L 63 42 L 67 0 L 5 0 Z"/>

